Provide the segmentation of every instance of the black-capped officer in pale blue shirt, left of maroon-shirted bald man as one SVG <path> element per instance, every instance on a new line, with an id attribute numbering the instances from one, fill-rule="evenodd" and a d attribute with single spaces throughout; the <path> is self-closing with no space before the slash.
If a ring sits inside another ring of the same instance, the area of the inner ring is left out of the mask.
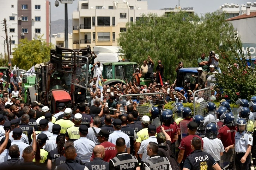
<path id="1" fill-rule="evenodd" d="M 83 164 L 90 162 L 93 148 L 95 143 L 88 139 L 86 136 L 88 134 L 88 127 L 86 125 L 80 125 L 79 135 L 80 138 L 74 141 L 74 147 L 77 151 L 77 157 L 81 159 Z"/>

